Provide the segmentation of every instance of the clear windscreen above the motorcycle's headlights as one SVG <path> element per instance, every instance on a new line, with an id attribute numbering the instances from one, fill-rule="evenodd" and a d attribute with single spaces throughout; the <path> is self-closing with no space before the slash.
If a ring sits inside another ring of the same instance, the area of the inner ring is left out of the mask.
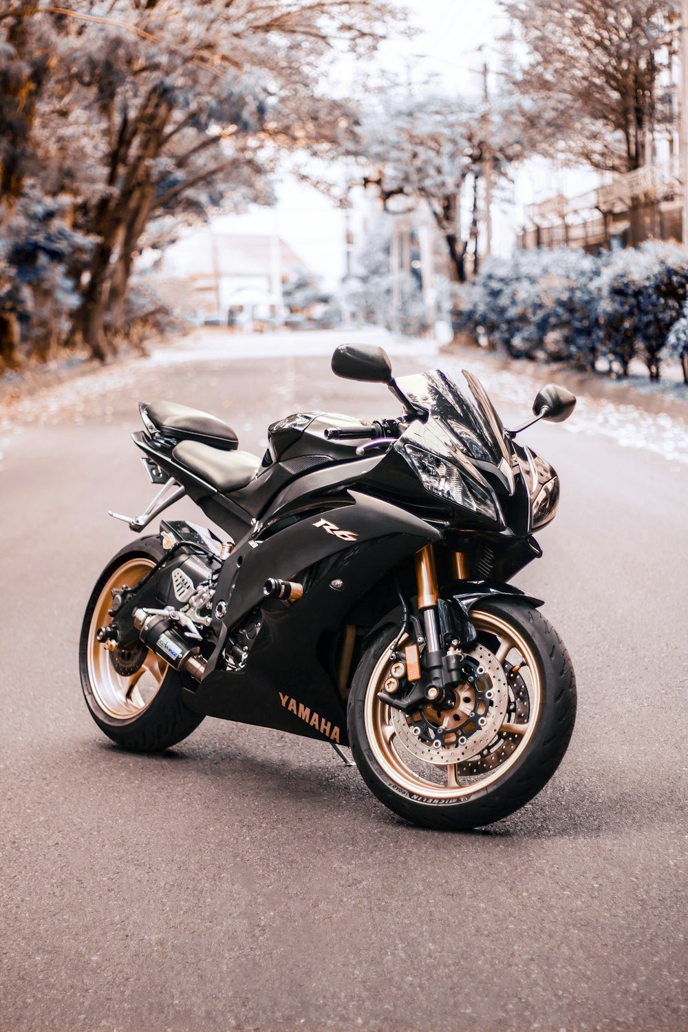
<path id="1" fill-rule="evenodd" d="M 441 369 L 401 377 L 397 383 L 414 405 L 428 411 L 465 456 L 494 465 L 502 459 L 509 461 L 501 420 L 485 388 L 472 374 L 463 375 L 473 405 Z"/>

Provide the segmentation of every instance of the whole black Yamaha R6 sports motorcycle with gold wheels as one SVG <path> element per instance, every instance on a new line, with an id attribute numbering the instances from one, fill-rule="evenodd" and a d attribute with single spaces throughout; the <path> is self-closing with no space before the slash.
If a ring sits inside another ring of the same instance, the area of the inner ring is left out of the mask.
<path id="1" fill-rule="evenodd" d="M 470 373 L 465 395 L 440 370 L 396 381 L 381 348 L 349 345 L 332 369 L 387 384 L 401 417 L 297 413 L 260 459 L 214 416 L 139 406 L 133 440 L 162 486 L 142 515 L 110 515 L 140 531 L 187 494 L 222 533 L 162 520 L 108 563 L 79 643 L 86 701 L 138 751 L 206 715 L 345 761 L 349 744 L 402 817 L 489 824 L 539 792 L 574 729 L 566 649 L 540 600 L 509 583 L 542 554 L 532 533 L 559 480 Z M 559 422 L 575 405 L 550 385 L 533 414 Z"/>

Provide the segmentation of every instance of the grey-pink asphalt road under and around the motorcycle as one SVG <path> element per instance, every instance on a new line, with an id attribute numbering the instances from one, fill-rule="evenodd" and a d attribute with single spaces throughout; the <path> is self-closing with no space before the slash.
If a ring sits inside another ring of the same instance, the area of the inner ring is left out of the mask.
<path id="1" fill-rule="evenodd" d="M 58 394 L 0 471 L 0 1028 L 688 1027 L 688 465 L 528 432 L 562 503 L 517 583 L 567 643 L 578 723 L 525 809 L 435 833 L 306 739 L 206 719 L 164 756 L 122 752 L 76 666 L 88 594 L 130 537 L 105 511 L 150 495 L 139 398 L 214 411 L 259 451 L 279 416 L 391 414 L 386 391 L 310 356 L 149 362 Z"/>

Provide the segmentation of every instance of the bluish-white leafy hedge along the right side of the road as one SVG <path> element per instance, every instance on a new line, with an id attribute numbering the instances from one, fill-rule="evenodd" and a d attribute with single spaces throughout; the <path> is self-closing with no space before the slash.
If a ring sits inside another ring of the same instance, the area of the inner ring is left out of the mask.
<path id="1" fill-rule="evenodd" d="M 482 328 L 514 358 L 626 376 L 642 358 L 659 379 L 667 336 L 688 290 L 688 258 L 674 245 L 588 255 L 580 249 L 518 251 L 493 258 L 464 291 L 460 328 Z"/>

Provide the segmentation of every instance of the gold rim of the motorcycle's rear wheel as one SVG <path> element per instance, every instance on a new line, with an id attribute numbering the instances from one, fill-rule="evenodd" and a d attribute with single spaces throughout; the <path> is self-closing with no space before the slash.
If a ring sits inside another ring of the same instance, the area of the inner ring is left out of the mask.
<path id="1" fill-rule="evenodd" d="M 135 587 L 154 566 L 152 559 L 137 557 L 118 567 L 98 595 L 91 617 L 87 643 L 89 684 L 98 707 L 116 720 L 128 722 L 146 710 L 160 691 L 169 667 L 148 649 L 133 674 L 120 674 L 114 669 L 111 653 L 96 639 L 96 632 L 110 622 L 107 611 L 112 605 L 112 589 L 125 584 Z"/>

